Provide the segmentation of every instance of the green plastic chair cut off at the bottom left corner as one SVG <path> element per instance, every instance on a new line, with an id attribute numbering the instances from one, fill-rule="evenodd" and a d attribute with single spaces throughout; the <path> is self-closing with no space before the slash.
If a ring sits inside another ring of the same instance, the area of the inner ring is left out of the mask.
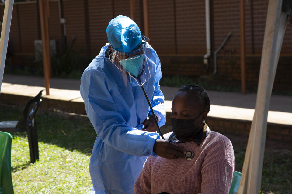
<path id="1" fill-rule="evenodd" d="M 0 131 L 0 194 L 13 194 L 10 133 Z"/>

